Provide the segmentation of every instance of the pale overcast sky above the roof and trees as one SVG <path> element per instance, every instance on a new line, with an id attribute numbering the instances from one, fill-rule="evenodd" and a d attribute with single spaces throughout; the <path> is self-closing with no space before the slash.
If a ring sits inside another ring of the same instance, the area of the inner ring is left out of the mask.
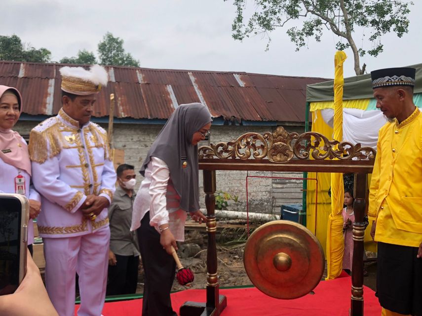
<path id="1" fill-rule="evenodd" d="M 422 63 L 422 1 L 414 2 L 409 33 L 385 35 L 384 53 L 361 59 L 368 72 Z M 45 47 L 54 61 L 76 56 L 80 49 L 97 54 L 98 42 L 111 32 L 124 39 L 125 50 L 146 68 L 325 78 L 334 73 L 338 38 L 328 31 L 321 43 L 309 40 L 300 52 L 285 34 L 287 28 L 271 34 L 268 52 L 267 40 L 260 36 L 235 41 L 232 0 L 1 0 L 1 11 L 0 35 L 16 34 L 36 48 Z M 354 35 L 358 45 L 362 38 Z M 371 43 L 364 42 L 363 48 L 370 49 Z M 353 54 L 346 54 L 345 76 L 353 76 Z"/>

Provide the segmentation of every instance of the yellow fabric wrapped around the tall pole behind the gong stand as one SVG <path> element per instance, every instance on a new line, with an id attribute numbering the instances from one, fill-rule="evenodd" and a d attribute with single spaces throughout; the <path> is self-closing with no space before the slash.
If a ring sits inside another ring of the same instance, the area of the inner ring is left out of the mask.
<path id="1" fill-rule="evenodd" d="M 343 63 L 346 54 L 336 52 L 334 57 L 334 139 L 343 140 Z M 331 174 L 331 214 L 327 224 L 327 278 L 337 278 L 342 272 L 343 252 L 345 243 L 343 238 L 343 216 L 345 188 L 343 174 Z"/>

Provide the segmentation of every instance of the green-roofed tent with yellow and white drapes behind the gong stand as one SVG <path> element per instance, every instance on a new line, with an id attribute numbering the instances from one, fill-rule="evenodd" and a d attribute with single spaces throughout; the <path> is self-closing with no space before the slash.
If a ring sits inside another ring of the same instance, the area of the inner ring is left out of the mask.
<path id="1" fill-rule="evenodd" d="M 392 65 L 391 67 L 393 67 Z M 415 104 L 422 108 L 422 64 L 409 66 L 416 69 Z M 320 82 L 307 86 L 307 102 L 312 113 L 312 131 L 333 139 L 334 115 L 334 81 Z M 385 124 L 383 113 L 376 108 L 373 99 L 371 75 L 365 74 L 345 78 L 343 93 L 343 140 L 376 149 L 378 131 Z M 318 179 L 307 181 L 307 228 L 316 231 L 324 251 L 327 234 L 327 218 L 331 213 L 331 200 L 328 189 L 331 186 L 330 174 L 308 173 L 308 178 Z M 370 179 L 369 179 L 370 180 Z M 316 197 L 317 195 L 317 197 Z M 315 205 L 315 201 L 317 205 Z M 316 229 L 315 229 L 316 224 Z M 365 232 L 365 247 L 375 251 L 376 247 Z"/>

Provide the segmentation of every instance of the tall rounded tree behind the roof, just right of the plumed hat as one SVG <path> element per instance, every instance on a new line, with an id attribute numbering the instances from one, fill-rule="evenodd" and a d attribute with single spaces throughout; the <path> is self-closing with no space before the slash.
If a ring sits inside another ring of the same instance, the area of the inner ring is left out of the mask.
<path id="1" fill-rule="evenodd" d="M 98 55 L 102 65 L 139 67 L 139 61 L 123 48 L 123 39 L 107 32 L 98 44 Z"/>

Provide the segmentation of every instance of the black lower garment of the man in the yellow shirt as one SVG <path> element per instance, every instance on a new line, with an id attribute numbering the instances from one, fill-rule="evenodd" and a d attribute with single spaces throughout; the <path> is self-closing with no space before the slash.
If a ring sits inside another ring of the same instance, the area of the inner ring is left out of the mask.
<path id="1" fill-rule="evenodd" d="M 378 243 L 376 295 L 385 309 L 422 316 L 422 258 L 417 254 L 418 247 Z"/>

